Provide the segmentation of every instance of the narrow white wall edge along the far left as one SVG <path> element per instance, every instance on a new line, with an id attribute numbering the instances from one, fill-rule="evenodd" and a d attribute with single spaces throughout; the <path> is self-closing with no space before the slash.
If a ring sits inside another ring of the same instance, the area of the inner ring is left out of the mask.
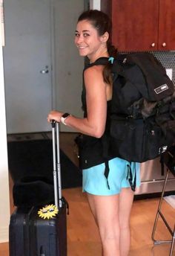
<path id="1" fill-rule="evenodd" d="M 1 35 L 1 30 L 0 30 Z M 7 166 L 7 131 L 4 101 L 4 70 L 0 39 L 0 243 L 8 241 L 8 225 L 10 220 L 10 196 Z"/>

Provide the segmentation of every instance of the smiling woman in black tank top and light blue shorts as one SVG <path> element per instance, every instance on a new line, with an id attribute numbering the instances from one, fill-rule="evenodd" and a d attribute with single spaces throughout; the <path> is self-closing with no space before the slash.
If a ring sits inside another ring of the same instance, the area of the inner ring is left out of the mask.
<path id="1" fill-rule="evenodd" d="M 109 17 L 99 10 L 82 13 L 76 25 L 74 42 L 79 55 L 90 60 L 90 65 L 83 71 L 84 117 L 68 115 L 65 120 L 63 112 L 51 111 L 47 120 L 61 121 L 82 133 L 78 144 L 83 191 L 87 193 L 91 211 L 98 223 L 102 255 L 126 256 L 130 249 L 129 220 L 133 202 L 127 174 L 128 161 L 111 153 L 105 157 L 104 147 L 108 139 L 112 97 L 110 60 L 116 57 L 116 49 L 111 45 Z M 131 173 L 134 170 L 136 185 L 139 186 L 139 164 L 131 163 Z"/>

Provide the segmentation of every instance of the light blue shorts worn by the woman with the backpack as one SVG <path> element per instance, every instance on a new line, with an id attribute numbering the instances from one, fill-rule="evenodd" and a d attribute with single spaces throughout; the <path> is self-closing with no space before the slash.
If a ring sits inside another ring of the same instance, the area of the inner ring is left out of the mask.
<path id="1" fill-rule="evenodd" d="M 108 183 L 105 178 L 105 163 L 83 170 L 82 190 L 96 196 L 110 196 L 120 193 L 122 188 L 131 187 L 128 181 L 128 161 L 124 159 L 111 159 L 109 161 Z M 140 164 L 131 162 L 131 173 L 133 179 L 136 174 L 136 187 L 140 185 L 139 178 Z M 108 184 L 110 189 L 108 188 Z"/>

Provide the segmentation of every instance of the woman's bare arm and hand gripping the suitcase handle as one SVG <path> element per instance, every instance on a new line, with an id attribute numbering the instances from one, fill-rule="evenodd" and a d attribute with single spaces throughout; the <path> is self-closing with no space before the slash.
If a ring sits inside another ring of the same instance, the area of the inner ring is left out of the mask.
<path id="1" fill-rule="evenodd" d="M 68 127 L 96 138 L 102 137 L 105 131 L 107 115 L 106 84 L 102 77 L 102 68 L 102 65 L 94 65 L 84 72 L 87 118 L 70 116 L 65 121 Z M 60 121 L 62 114 L 62 112 L 51 111 L 47 119 Z"/>

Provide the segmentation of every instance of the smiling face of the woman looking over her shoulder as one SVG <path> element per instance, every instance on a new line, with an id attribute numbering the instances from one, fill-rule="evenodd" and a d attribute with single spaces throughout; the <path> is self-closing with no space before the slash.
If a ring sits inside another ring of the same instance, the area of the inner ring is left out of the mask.
<path id="1" fill-rule="evenodd" d="M 87 20 L 82 20 L 76 25 L 75 44 L 80 56 L 91 58 L 102 48 L 102 36 Z M 104 46 L 103 46 L 104 47 Z"/>

